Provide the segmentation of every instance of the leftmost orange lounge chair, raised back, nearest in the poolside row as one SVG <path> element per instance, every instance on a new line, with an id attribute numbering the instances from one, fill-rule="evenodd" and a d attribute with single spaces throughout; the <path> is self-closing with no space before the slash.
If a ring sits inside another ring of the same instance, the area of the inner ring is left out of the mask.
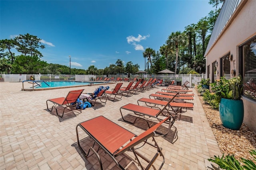
<path id="1" fill-rule="evenodd" d="M 82 105 L 81 103 L 80 104 L 74 104 L 74 105 L 71 105 L 71 104 L 76 103 L 77 99 L 79 98 L 79 96 L 82 94 L 83 91 L 84 91 L 84 89 L 82 89 L 82 90 L 72 90 L 72 91 L 68 92 L 68 95 L 66 96 L 66 98 L 61 97 L 61 98 L 54 98 L 54 99 L 46 100 L 47 109 L 50 112 L 52 112 L 52 109 L 55 108 L 57 116 L 63 117 L 64 111 L 67 107 L 77 107 L 77 106 Z M 52 106 L 51 110 L 48 108 L 48 102 L 52 102 L 54 104 Z M 62 115 L 58 114 L 57 106 L 64 107 Z M 83 108 L 83 107 L 81 106 L 81 108 Z M 80 113 L 82 113 L 82 109 L 80 110 Z"/>

